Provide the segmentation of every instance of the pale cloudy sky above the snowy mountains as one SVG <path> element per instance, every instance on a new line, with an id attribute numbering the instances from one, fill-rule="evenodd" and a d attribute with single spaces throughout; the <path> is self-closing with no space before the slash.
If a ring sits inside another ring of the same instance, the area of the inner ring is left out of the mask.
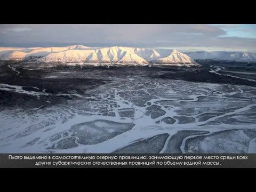
<path id="1" fill-rule="evenodd" d="M 256 52 L 255 24 L 1 24 L 0 46 L 132 46 Z"/>

